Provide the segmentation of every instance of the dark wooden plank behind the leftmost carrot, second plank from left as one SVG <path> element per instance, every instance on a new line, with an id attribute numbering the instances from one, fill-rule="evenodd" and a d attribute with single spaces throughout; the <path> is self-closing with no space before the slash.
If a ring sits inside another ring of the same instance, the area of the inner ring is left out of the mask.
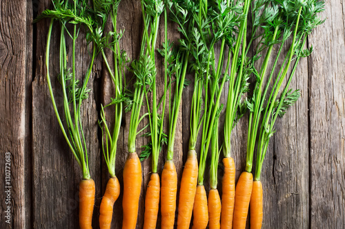
<path id="1" fill-rule="evenodd" d="M 39 2 L 39 12 L 52 8 L 50 0 Z M 79 182 L 81 171 L 72 152 L 68 149 L 61 129 L 52 108 L 46 82 L 44 57 L 48 20 L 37 23 L 37 67 L 32 83 L 32 149 L 33 149 L 33 225 L 34 228 L 77 228 L 79 208 Z M 71 60 L 72 43 L 66 41 L 68 59 Z M 50 46 L 50 76 L 54 88 L 55 99 L 61 118 L 62 94 L 61 85 L 57 80 L 59 67 L 59 24 L 55 23 Z M 90 48 L 90 47 L 88 47 Z M 76 74 L 79 79 L 86 74 L 90 63 L 87 45 L 83 32 L 79 33 L 76 49 Z M 69 62 L 70 63 L 70 62 Z M 95 98 L 100 65 L 95 62 L 88 88 L 92 89 L 89 98 L 83 101 L 81 116 L 83 131 L 86 135 L 90 175 L 95 179 L 96 202 L 92 225 L 98 225 L 100 197 L 100 152 L 97 138 L 97 110 Z M 66 120 L 62 118 L 63 122 Z"/>

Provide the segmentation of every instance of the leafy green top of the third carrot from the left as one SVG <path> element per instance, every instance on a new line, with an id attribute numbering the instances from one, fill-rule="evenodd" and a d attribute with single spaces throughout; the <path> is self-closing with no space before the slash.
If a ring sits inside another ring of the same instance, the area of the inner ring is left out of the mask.
<path id="1" fill-rule="evenodd" d="M 146 14 L 146 8 L 148 13 Z M 128 152 L 135 152 L 135 139 L 137 134 L 141 133 L 145 129 L 137 131 L 139 122 L 146 116 L 150 118 L 150 130 L 157 130 L 158 128 L 158 116 L 157 105 L 153 105 L 153 115 L 151 122 L 150 113 L 145 113 L 144 116 L 140 116 L 141 105 L 143 104 L 144 96 L 147 100 L 148 90 L 155 87 L 155 77 L 157 74 L 155 67 L 155 45 L 157 41 L 157 34 L 159 28 L 159 16 L 164 10 L 163 1 L 141 1 L 141 13 L 144 18 L 144 35 L 141 40 L 141 50 L 139 59 L 132 62 L 132 72 L 135 74 L 137 80 L 134 85 L 134 93 L 132 99 L 132 113 L 130 116 L 130 129 L 128 134 Z M 151 26 L 151 32 L 149 33 L 149 26 Z M 156 90 L 153 91 L 153 96 L 156 97 Z M 155 101 L 156 99 L 154 99 Z M 157 133 L 152 138 L 157 142 Z M 155 150 L 155 149 L 152 149 Z M 144 153 L 146 154 L 146 153 Z M 155 159 L 154 159 L 155 160 Z"/>

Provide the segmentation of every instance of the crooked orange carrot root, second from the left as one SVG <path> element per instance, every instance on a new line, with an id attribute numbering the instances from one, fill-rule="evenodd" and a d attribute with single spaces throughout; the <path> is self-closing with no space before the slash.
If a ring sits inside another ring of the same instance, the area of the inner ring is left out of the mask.
<path id="1" fill-rule="evenodd" d="M 111 177 L 106 186 L 106 193 L 99 208 L 99 228 L 109 229 L 112 220 L 112 206 L 120 195 L 120 184 L 117 177 Z"/>

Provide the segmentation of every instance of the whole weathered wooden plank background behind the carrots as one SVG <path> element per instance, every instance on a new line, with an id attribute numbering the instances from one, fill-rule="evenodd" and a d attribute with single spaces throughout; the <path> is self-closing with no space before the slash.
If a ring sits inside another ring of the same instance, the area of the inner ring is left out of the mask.
<path id="1" fill-rule="evenodd" d="M 0 182 L 0 228 L 78 228 L 81 172 L 59 129 L 46 84 L 43 58 L 48 21 L 32 24 L 37 13 L 52 8 L 51 5 L 50 0 L 0 0 L 0 175 L 3 181 Z M 313 54 L 300 61 L 290 85 L 301 89 L 302 98 L 277 121 L 277 133 L 270 140 L 264 162 L 263 228 L 345 228 L 344 10 L 343 0 L 326 1 L 326 10 L 321 15 L 327 18 L 326 22 L 308 36 L 307 45 L 313 45 Z M 121 1 L 118 21 L 119 29 L 126 30 L 121 47 L 130 58 L 137 58 L 143 28 L 140 1 Z M 56 75 L 58 65 L 56 31 L 50 56 L 52 76 Z M 176 40 L 175 25 L 169 25 L 169 36 Z M 158 42 L 162 39 L 163 32 Z M 81 75 L 89 63 L 84 58 L 88 54 L 82 37 L 78 47 L 77 74 Z M 157 65 L 161 66 L 161 59 Z M 107 102 L 112 95 L 112 86 L 103 69 L 101 59 L 97 58 L 88 85 L 92 92 L 82 111 L 83 124 L 87 127 L 90 173 L 97 187 L 94 228 L 98 228 L 99 204 L 108 180 L 97 127 L 100 102 Z M 57 85 L 57 80 L 52 83 Z M 188 149 L 191 90 L 192 87 L 184 90 L 177 124 L 174 161 L 179 178 Z M 223 103 L 227 90 L 224 93 Z M 59 99 L 58 90 L 55 94 Z M 58 107 L 61 108 L 61 102 Z M 110 116 L 111 111 L 107 114 Z M 127 114 L 118 142 L 116 172 L 120 184 L 126 160 L 128 122 Z M 246 129 L 245 116 L 237 124 L 232 139 L 237 177 L 244 171 Z M 146 141 L 138 138 L 138 152 Z M 6 152 L 12 155 L 10 224 L 4 218 Z M 159 171 L 165 157 L 164 151 Z M 150 160 L 143 162 L 142 168 L 144 182 L 137 228 L 143 225 Z M 120 195 L 115 203 L 112 228 L 121 228 L 121 214 Z"/>

